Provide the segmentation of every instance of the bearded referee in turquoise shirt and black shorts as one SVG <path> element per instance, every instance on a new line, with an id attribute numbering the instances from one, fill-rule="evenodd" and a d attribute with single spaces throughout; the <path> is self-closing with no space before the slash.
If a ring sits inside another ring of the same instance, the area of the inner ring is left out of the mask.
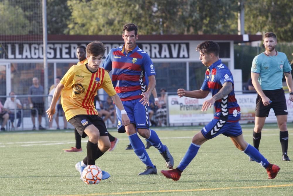
<path id="1" fill-rule="evenodd" d="M 277 117 L 280 129 L 282 146 L 282 160 L 290 161 L 288 150 L 287 104 L 285 92 L 282 88 L 283 73 L 289 88 L 289 100 L 293 101 L 293 81 L 291 66 L 285 53 L 277 52 L 277 36 L 272 32 L 263 37 L 265 52 L 254 57 L 251 67 L 251 79 L 258 93 L 255 107 L 255 126 L 253 129 L 253 146 L 258 149 L 261 139 L 261 130 L 272 108 Z M 249 159 L 253 161 L 253 159 Z"/>

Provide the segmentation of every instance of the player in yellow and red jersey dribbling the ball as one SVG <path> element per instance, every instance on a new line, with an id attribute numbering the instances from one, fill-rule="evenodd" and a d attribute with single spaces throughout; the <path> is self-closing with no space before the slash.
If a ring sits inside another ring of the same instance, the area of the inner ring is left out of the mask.
<path id="1" fill-rule="evenodd" d="M 76 163 L 75 168 L 82 173 L 87 165 L 95 165 L 96 159 L 110 148 L 106 125 L 93 104 L 98 89 L 103 88 L 122 113 L 122 124 L 129 125 L 130 120 L 122 102 L 115 92 L 109 74 L 99 68 L 105 47 L 102 42 L 91 42 L 86 47 L 88 63 L 72 66 L 57 85 L 50 108 L 46 111 L 50 121 L 61 95 L 61 103 L 67 121 L 73 125 L 82 138 L 89 140 L 86 145 L 87 156 Z M 103 172 L 103 178 L 110 174 Z"/>

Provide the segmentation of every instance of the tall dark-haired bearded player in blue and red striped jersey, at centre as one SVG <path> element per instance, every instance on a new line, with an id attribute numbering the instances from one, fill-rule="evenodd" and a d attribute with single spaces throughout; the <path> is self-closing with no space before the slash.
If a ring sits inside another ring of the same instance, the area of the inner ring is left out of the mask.
<path id="1" fill-rule="evenodd" d="M 118 132 L 126 131 L 135 154 L 147 166 L 139 175 L 148 175 L 156 174 L 157 169 L 137 132 L 159 150 L 168 168 L 173 168 L 174 161 L 167 146 L 162 144 L 154 130 L 149 129 L 147 104 L 156 86 L 156 71 L 149 55 L 136 45 L 137 30 L 137 25 L 132 23 L 123 26 L 124 45 L 110 50 L 103 62 L 103 68 L 108 72 L 112 71 L 113 86 L 130 118 L 131 124 L 125 129 L 118 121 Z M 148 85 L 145 83 L 146 76 Z M 116 113 L 119 120 L 120 111 Z"/>

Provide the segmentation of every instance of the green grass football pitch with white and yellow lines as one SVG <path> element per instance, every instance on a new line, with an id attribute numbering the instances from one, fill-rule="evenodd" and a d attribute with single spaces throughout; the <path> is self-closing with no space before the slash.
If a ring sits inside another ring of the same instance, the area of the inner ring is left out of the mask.
<path id="1" fill-rule="evenodd" d="M 174 157 L 174 167 L 184 156 L 191 138 L 201 127 L 156 128 L 163 144 Z M 243 125 L 243 135 L 252 144 L 253 125 Z M 288 155 L 293 158 L 292 130 L 288 124 Z M 248 156 L 234 147 L 228 137 L 203 144 L 180 180 L 161 175 L 166 170 L 163 157 L 151 147 L 147 152 L 158 169 L 157 175 L 138 176 L 145 166 L 132 150 L 126 134 L 110 129 L 119 138 L 114 151 L 96 161 L 111 177 L 98 185 L 86 185 L 74 166 L 86 156 L 83 152 L 65 153 L 75 145 L 73 130 L 0 133 L 0 195 L 292 195 L 293 160 L 282 161 L 279 129 L 266 124 L 260 142 L 261 153 L 281 170 L 273 180 L 263 167 L 249 162 Z M 144 144 L 146 143 L 143 140 Z"/>

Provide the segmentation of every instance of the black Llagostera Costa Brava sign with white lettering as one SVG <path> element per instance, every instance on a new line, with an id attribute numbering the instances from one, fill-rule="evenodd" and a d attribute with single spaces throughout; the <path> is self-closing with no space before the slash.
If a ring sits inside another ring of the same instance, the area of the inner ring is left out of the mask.
<path id="1" fill-rule="evenodd" d="M 122 46 L 123 43 L 103 42 L 106 47 L 105 56 L 111 48 Z M 47 44 L 48 59 L 76 59 L 76 48 L 86 47 L 88 43 L 52 43 Z M 147 52 L 152 59 L 185 59 L 189 58 L 189 43 L 160 42 L 137 43 L 138 47 Z M 0 59 L 42 59 L 43 44 L 40 43 L 2 43 Z"/>

